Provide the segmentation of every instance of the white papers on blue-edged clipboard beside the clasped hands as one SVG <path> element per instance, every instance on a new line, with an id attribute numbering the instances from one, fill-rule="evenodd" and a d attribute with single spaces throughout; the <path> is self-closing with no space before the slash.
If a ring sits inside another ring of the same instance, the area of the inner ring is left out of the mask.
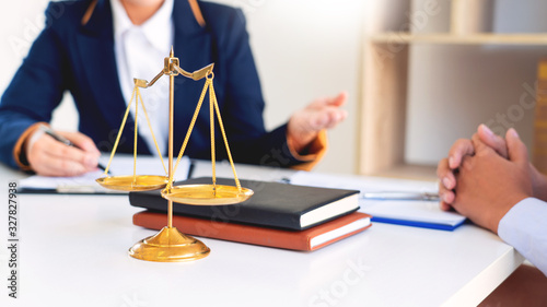
<path id="1" fill-rule="evenodd" d="M 364 198 L 364 194 L 370 192 L 437 193 L 437 182 L 432 181 L 298 172 L 290 178 L 290 182 L 301 186 L 360 190 L 361 209 L 359 211 L 372 215 L 373 222 L 453 231 L 466 220 L 465 216 L 455 212 L 442 211 L 438 201 Z"/>

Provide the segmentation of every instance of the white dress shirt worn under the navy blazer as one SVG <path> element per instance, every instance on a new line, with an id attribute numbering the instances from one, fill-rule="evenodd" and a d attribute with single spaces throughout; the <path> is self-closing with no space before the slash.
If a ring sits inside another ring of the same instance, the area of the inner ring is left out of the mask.
<path id="1" fill-rule="evenodd" d="M 165 0 L 153 16 L 141 25 L 135 25 L 119 0 L 110 0 L 116 66 L 126 105 L 133 91 L 133 78 L 150 81 L 163 69 L 163 59 L 168 56 L 174 40 L 173 3 L 174 0 Z M 153 86 L 140 88 L 140 93 L 158 145 L 162 154 L 166 155 L 168 78 L 162 76 Z M 131 116 L 135 118 L 135 98 L 131 103 Z M 138 115 L 139 134 L 146 141 L 150 152 L 158 155 L 140 102 Z"/>

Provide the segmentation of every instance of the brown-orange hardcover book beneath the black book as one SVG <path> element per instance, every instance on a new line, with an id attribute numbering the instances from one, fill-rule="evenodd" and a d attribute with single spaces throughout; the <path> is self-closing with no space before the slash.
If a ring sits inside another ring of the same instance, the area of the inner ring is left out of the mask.
<path id="1" fill-rule="evenodd" d="M 161 229 L 166 223 L 165 213 L 142 211 L 133 215 L 135 225 L 151 229 Z M 361 212 L 353 212 L 305 231 L 173 215 L 173 226 L 183 234 L 295 250 L 315 250 L 360 233 L 371 225 L 371 216 Z"/>

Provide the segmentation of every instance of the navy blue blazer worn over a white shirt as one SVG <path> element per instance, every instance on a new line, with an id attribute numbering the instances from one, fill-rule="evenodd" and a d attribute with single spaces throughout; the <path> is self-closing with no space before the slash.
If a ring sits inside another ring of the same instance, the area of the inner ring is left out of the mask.
<path id="1" fill-rule="evenodd" d="M 91 0 L 53 2 L 46 10 L 45 29 L 1 98 L 3 163 L 16 167 L 13 146 L 19 137 L 37 121 L 49 122 L 65 91 L 70 91 L 74 98 L 79 130 L 91 137 L 101 151 L 112 150 L 126 103 L 119 87 L 109 1 L 98 0 L 89 22 L 82 25 L 90 3 Z M 265 130 L 264 99 L 242 11 L 209 2 L 200 2 L 199 7 L 207 23 L 203 27 L 194 17 L 188 1 L 175 0 L 175 57 L 187 71 L 214 62 L 214 90 L 234 161 L 275 166 L 300 163 L 288 150 L 287 125 L 270 132 Z M 203 83 L 205 80 L 175 78 L 175 155 Z M 128 118 L 117 152 L 132 152 L 131 121 Z M 185 154 L 210 158 L 209 133 L 209 108 L 202 107 Z M 225 158 L 220 130 L 216 139 L 217 156 Z M 150 154 L 140 137 L 138 151 Z"/>

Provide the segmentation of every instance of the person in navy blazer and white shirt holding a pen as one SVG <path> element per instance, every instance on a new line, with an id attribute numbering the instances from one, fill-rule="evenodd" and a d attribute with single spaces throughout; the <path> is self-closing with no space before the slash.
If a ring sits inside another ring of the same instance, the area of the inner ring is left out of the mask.
<path id="1" fill-rule="evenodd" d="M 325 152 L 324 129 L 347 116 L 340 109 L 347 95 L 340 93 L 313 102 L 286 125 L 266 131 L 258 74 L 237 9 L 196 0 L 82 0 L 51 2 L 46 16 L 45 29 L 0 104 L 0 161 L 13 167 L 49 176 L 96 169 L 100 150 L 112 150 L 119 129 L 130 91 L 127 82 L 153 78 L 156 73 L 146 68 L 155 62 L 147 60 L 156 51 L 167 56 L 163 49 L 170 45 L 187 71 L 214 62 L 214 88 L 235 162 L 311 168 Z M 131 75 L 142 71 L 147 75 Z M 183 142 L 202 87 L 183 79 L 177 78 L 175 86 L 175 147 Z M 74 98 L 79 132 L 59 133 L 78 147 L 37 129 L 49 122 L 65 91 Z M 210 158 L 208 111 L 203 108 L 196 122 L 186 151 L 190 157 Z M 161 133 L 162 116 L 155 116 L 160 141 L 166 137 Z M 126 125 L 127 130 L 131 127 Z M 153 152 L 150 135 L 140 129 L 138 149 L 141 154 Z M 132 138 L 123 139 L 118 152 L 131 151 Z M 219 150 L 218 157 L 225 153 Z"/>

